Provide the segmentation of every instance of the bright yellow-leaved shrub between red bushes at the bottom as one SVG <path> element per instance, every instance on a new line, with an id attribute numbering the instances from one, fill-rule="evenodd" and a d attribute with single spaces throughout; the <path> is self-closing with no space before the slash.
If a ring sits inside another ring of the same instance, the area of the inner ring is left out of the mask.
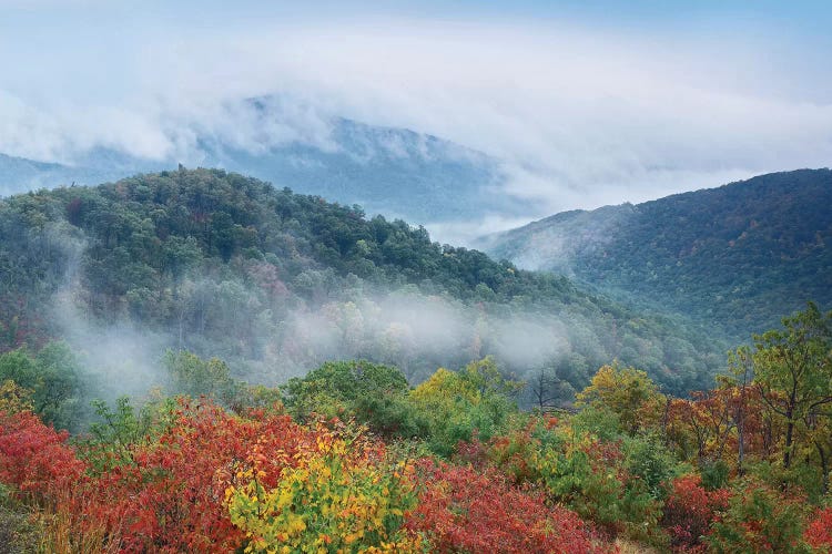
<path id="1" fill-rule="evenodd" d="M 392 462 L 371 441 L 319 433 L 274 486 L 251 460 L 225 491 L 231 521 L 246 552 L 418 551 L 420 538 L 402 529 L 416 502 L 413 466 Z"/>

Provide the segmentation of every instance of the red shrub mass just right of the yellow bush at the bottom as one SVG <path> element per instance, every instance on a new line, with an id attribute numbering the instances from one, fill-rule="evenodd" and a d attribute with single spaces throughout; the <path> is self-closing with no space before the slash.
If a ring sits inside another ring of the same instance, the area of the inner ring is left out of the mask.
<path id="1" fill-rule="evenodd" d="M 509 485 L 496 471 L 418 464 L 426 488 L 406 526 L 438 552 L 599 552 L 577 514 L 547 506 L 541 494 Z"/>

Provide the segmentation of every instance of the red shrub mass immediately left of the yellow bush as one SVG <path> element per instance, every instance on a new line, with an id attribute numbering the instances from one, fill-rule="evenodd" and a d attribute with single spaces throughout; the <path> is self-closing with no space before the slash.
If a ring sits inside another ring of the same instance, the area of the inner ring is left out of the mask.
<path id="1" fill-rule="evenodd" d="M 235 470 L 268 468 L 264 484 L 274 486 L 304 441 L 314 441 L 313 433 L 285 416 L 250 420 L 213 404 L 183 404 L 166 433 L 136 449 L 134 465 L 101 476 L 111 497 L 97 519 L 121 523 L 124 551 L 234 550 L 244 535 L 223 495 Z"/>

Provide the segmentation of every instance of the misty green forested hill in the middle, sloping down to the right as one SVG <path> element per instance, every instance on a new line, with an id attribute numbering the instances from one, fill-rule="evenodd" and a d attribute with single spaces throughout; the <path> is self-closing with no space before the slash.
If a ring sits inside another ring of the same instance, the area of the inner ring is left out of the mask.
<path id="1" fill-rule="evenodd" d="M 214 170 L 9 197 L 0 268 L 0 347 L 65 338 L 115 389 L 146 390 L 172 347 L 265 383 L 348 358 L 419 382 L 494 355 L 518 378 L 559 383 L 565 399 L 619 359 L 684 393 L 727 349 L 564 277 Z"/>

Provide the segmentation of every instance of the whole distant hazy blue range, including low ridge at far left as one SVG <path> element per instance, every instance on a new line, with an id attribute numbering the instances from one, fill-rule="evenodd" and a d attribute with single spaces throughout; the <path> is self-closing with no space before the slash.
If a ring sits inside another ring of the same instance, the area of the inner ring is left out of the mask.
<path id="1" fill-rule="evenodd" d="M 246 105 L 254 126 L 281 124 L 270 103 Z M 318 140 L 263 137 L 245 147 L 225 135 L 195 130 L 196 153 L 189 160 L 149 161 L 102 147 L 83 153 L 72 166 L 0 155 L 0 195 L 73 182 L 94 185 L 190 162 L 419 224 L 488 214 L 522 216 L 531 209 L 499 192 L 505 179 L 500 163 L 486 154 L 433 135 L 341 117 L 327 121 L 326 127 Z"/>

